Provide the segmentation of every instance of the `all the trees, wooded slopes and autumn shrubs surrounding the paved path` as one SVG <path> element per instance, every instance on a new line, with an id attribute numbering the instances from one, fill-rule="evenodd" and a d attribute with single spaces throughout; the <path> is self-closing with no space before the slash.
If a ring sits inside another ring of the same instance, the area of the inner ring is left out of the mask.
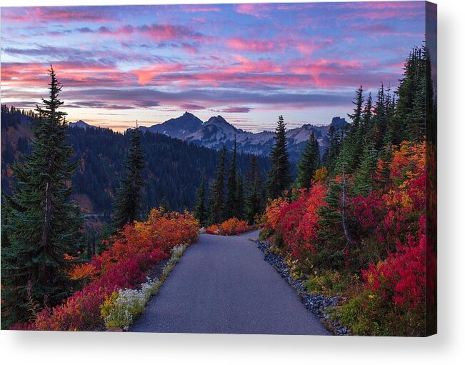
<path id="1" fill-rule="evenodd" d="M 351 123 L 329 129 L 322 156 L 312 135 L 297 176 L 282 116 L 269 161 L 236 144 L 216 152 L 137 128 L 66 129 L 61 85 L 50 76 L 49 99 L 32 116 L 34 141 L 18 143 L 19 161 L 4 151 L 15 179 L 9 191 L 2 181 L 2 328 L 99 328 L 115 288 L 141 284 L 201 226 L 236 219 L 261 226 L 309 291 L 340 296 L 331 318 L 352 333 L 435 332 L 436 99 L 424 47 L 412 49 L 394 91 L 356 89 Z M 17 111 L 2 106 L 2 128 L 4 114 Z M 92 195 L 97 184 L 111 194 Z M 111 213 L 91 255 L 71 186 Z"/>

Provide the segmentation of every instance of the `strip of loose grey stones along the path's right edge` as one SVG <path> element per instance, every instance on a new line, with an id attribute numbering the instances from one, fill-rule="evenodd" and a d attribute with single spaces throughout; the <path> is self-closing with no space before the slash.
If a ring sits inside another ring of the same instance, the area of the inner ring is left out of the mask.
<path id="1" fill-rule="evenodd" d="M 271 266 L 278 271 L 279 275 L 281 275 L 281 277 L 297 292 L 306 309 L 311 311 L 311 313 L 316 314 L 326 328 L 333 334 L 339 336 L 350 334 L 350 331 L 346 326 L 341 326 L 338 321 L 330 319 L 329 314 L 326 313 L 327 309 L 331 309 L 331 307 L 338 305 L 339 296 L 310 294 L 306 289 L 304 281 L 296 280 L 291 276 L 291 269 L 285 263 L 284 258 L 270 251 L 269 242 L 261 240 L 254 241 L 257 246 L 259 246 L 259 249 L 264 253 L 265 261 L 271 264 Z"/>

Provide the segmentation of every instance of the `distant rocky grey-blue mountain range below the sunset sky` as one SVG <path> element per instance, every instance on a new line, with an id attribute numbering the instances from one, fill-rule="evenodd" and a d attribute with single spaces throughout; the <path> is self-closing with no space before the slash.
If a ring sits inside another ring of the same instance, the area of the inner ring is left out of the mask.
<path id="1" fill-rule="evenodd" d="M 320 144 L 321 154 L 323 154 L 329 145 L 329 126 L 333 125 L 340 129 L 345 124 L 347 124 L 346 119 L 335 116 L 331 124 L 326 126 L 304 124 L 299 128 L 289 129 L 287 131 L 287 140 L 291 160 L 299 160 L 301 151 L 303 151 L 312 131 L 315 132 Z M 259 156 L 268 156 L 274 144 L 274 132 L 272 131 L 262 131 L 260 133 L 244 131 L 228 123 L 222 116 L 212 116 L 208 121 L 204 122 L 187 111 L 178 118 L 169 119 L 164 123 L 154 124 L 149 127 L 141 126 L 140 128 L 144 131 L 165 134 L 172 138 L 182 139 L 211 149 L 221 149 L 222 146 L 231 149 L 234 138 L 236 138 L 239 151 Z"/>

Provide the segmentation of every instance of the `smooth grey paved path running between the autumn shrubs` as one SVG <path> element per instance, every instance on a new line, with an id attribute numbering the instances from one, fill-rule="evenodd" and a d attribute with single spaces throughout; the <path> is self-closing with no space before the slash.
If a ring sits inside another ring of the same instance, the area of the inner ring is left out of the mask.
<path id="1" fill-rule="evenodd" d="M 249 238 L 201 234 L 129 331 L 329 334 Z"/>

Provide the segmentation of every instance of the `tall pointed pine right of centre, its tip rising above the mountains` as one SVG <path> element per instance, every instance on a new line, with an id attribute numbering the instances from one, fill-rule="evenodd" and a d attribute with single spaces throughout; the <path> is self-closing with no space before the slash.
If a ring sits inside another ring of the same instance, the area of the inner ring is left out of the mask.
<path id="1" fill-rule="evenodd" d="M 286 124 L 283 116 L 279 116 L 276 126 L 274 146 L 270 152 L 271 170 L 268 175 L 268 196 L 276 199 L 291 186 L 291 167 L 287 151 Z"/>

